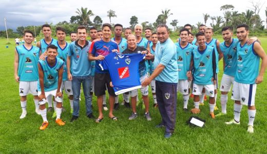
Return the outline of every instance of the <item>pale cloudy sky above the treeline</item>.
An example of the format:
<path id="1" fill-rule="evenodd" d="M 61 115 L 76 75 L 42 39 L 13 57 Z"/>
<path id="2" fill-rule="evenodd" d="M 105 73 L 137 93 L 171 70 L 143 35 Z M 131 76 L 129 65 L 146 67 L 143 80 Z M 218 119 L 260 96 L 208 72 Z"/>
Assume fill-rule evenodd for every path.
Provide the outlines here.
<path id="1" fill-rule="evenodd" d="M 255 1 L 255 2 L 258 2 Z M 260 16 L 265 21 L 264 10 L 267 7 L 267 3 L 263 0 L 259 1 L 263 6 L 260 11 Z M 220 11 L 220 7 L 225 4 L 234 5 L 235 10 L 244 12 L 246 9 L 250 9 L 252 6 L 249 0 L 244 1 L 175 1 L 164 0 L 162 3 L 159 1 L 119 1 L 119 0 L 79 0 L 79 1 L 18 1 L 18 0 L 2 0 L 0 4 L 0 30 L 5 29 L 4 17 L 7 19 L 7 27 L 16 29 L 18 26 L 29 25 L 42 25 L 44 23 L 53 23 L 67 21 L 69 22 L 72 15 L 77 15 L 75 11 L 77 8 L 87 7 L 92 10 L 96 15 L 99 15 L 103 23 L 109 23 L 107 17 L 107 11 L 112 9 L 116 11 L 117 17 L 111 18 L 111 23 L 120 23 L 124 27 L 129 26 L 130 17 L 135 15 L 138 17 L 138 22 L 154 23 L 157 16 L 161 14 L 161 10 L 167 8 L 173 15 L 170 15 L 167 23 L 172 20 L 178 20 L 178 25 L 183 26 L 187 23 L 196 25 L 198 22 L 203 21 L 203 13 L 207 13 L 211 16 L 223 16 L 223 12 Z M 94 16 L 90 17 L 92 21 Z M 207 21 L 207 25 L 211 23 L 211 20 Z M 265 24 L 265 23 L 264 23 Z M 170 25 L 168 25 L 170 26 Z M 172 26 L 170 26 L 172 28 Z"/>

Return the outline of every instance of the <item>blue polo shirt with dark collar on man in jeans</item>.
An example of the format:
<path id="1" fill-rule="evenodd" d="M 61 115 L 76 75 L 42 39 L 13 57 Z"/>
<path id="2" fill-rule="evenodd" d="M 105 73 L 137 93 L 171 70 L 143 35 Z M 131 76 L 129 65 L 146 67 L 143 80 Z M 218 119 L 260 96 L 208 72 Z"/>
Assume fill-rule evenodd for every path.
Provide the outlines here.
<path id="1" fill-rule="evenodd" d="M 91 62 L 88 59 L 88 50 L 91 42 L 86 41 L 81 47 L 78 41 L 74 41 L 69 45 L 68 56 L 71 56 L 70 71 L 72 76 L 89 76 L 91 73 Z"/>

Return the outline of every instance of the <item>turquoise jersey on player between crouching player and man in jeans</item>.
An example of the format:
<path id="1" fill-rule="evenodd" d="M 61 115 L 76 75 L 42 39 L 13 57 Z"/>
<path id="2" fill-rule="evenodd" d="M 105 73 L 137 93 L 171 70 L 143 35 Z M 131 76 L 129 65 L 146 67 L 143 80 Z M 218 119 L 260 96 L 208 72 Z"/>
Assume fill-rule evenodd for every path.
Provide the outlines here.
<path id="1" fill-rule="evenodd" d="M 59 42 L 56 42 L 55 46 L 58 47 L 58 57 L 62 59 L 62 61 L 64 62 L 62 81 L 67 81 L 68 80 L 67 57 L 69 52 L 69 44 L 66 42 L 66 46 L 63 49 L 60 47 Z"/>

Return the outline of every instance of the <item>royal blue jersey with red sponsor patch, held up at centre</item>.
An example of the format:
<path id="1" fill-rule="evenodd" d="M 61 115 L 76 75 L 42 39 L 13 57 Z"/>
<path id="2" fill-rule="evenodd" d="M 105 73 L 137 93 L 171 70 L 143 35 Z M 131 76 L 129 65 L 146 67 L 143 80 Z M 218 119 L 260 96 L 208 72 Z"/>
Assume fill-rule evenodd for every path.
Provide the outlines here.
<path id="1" fill-rule="evenodd" d="M 145 54 L 121 54 L 112 52 L 100 62 L 100 67 L 108 69 L 115 94 L 141 88 L 138 73 L 139 62 L 145 59 Z"/>

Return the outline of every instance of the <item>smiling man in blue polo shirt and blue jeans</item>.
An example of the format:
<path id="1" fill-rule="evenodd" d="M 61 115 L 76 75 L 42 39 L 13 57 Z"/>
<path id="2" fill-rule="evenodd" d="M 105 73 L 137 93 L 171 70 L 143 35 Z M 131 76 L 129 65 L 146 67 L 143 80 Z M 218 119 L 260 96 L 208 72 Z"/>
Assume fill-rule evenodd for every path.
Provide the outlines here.
<path id="1" fill-rule="evenodd" d="M 85 98 L 86 116 L 95 119 L 91 108 L 91 63 L 88 61 L 88 50 L 91 42 L 86 41 L 87 30 L 85 26 L 77 28 L 78 40 L 69 45 L 67 58 L 68 80 L 71 81 L 73 92 L 73 113 L 70 122 L 79 118 L 81 84 Z"/>

